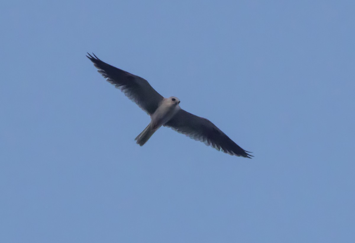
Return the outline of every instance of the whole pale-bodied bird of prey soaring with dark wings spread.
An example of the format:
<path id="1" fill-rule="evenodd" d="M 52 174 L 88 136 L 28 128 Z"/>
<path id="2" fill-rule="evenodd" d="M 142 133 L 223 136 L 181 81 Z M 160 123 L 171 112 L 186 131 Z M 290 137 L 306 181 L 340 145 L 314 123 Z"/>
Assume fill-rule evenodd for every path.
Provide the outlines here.
<path id="1" fill-rule="evenodd" d="M 135 139 L 140 146 L 143 146 L 161 126 L 165 126 L 224 153 L 245 158 L 253 157 L 249 154 L 251 152 L 239 147 L 212 122 L 181 109 L 177 97 L 164 98 L 147 80 L 103 62 L 94 53 L 93 56 L 89 53 L 88 55 L 94 66 L 99 69 L 98 72 L 109 83 L 115 85 L 151 116 L 151 122 Z"/>

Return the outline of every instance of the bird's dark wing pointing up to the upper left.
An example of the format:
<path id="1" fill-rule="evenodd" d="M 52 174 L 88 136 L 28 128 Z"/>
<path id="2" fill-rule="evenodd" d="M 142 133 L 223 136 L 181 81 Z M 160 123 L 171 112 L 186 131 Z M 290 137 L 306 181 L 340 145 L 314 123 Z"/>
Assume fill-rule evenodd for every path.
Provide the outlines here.
<path id="1" fill-rule="evenodd" d="M 93 54 L 94 57 L 89 53 L 88 55 L 87 57 L 94 63 L 94 66 L 99 69 L 98 72 L 104 78 L 107 78 L 107 81 L 125 93 L 142 110 L 149 115 L 152 115 L 157 110 L 159 103 L 163 100 L 163 96 L 155 91 L 147 80 L 111 66 L 97 58 L 95 54 Z"/>

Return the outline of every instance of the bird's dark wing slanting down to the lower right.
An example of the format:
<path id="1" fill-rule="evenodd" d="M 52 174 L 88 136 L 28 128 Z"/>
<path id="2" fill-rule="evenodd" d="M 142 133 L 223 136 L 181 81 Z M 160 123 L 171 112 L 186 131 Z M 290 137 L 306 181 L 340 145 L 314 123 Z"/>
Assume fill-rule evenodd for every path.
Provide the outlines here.
<path id="1" fill-rule="evenodd" d="M 212 146 L 224 153 L 246 158 L 253 157 L 253 155 L 248 154 L 251 152 L 239 147 L 212 122 L 185 110 L 179 110 L 164 126 L 171 127 L 179 133 L 185 134 L 196 141 L 204 142 L 207 146 Z"/>

